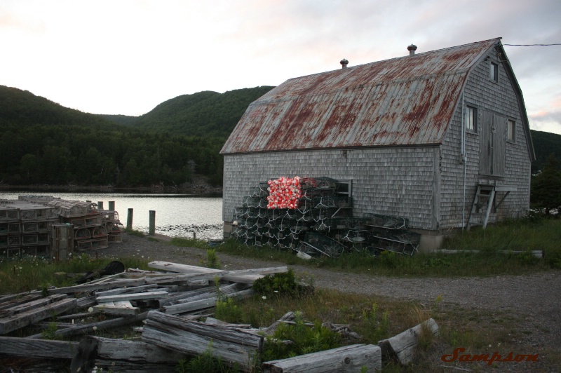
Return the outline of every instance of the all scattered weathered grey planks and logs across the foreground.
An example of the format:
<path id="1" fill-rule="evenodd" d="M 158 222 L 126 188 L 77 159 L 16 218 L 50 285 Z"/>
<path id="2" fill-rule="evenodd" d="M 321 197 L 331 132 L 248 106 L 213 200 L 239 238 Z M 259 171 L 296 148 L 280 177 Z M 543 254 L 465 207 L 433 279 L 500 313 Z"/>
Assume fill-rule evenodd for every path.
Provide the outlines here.
<path id="1" fill-rule="evenodd" d="M 151 262 L 149 266 L 161 271 L 129 269 L 81 285 L 0 297 L 0 334 L 4 334 L 0 336 L 0 366 L 11 367 L 18 359 L 18 369 L 25 368 L 21 361 L 27 359 L 34 364 L 29 367 L 41 372 L 60 371 L 55 361 L 65 362 L 65 369 L 70 367 L 72 372 L 92 372 L 94 367 L 114 372 L 171 372 L 180 360 L 210 352 L 225 364 L 250 372 L 261 360 L 264 339 L 279 325 L 294 323 L 292 312 L 261 329 L 210 317 L 217 300 L 250 297 L 257 278 L 288 271 L 285 266 L 241 271 L 168 262 Z M 48 323 L 53 316 L 57 316 L 56 323 Z M 128 325 L 142 332 L 140 337 L 96 335 L 100 330 L 116 332 Z M 350 331 L 350 325 L 324 326 L 347 339 L 360 338 Z M 129 334 L 130 329 L 126 329 Z M 26 337 L 14 337 L 15 331 Z M 378 345 L 352 344 L 268 361 L 262 363 L 262 369 L 357 372 L 366 367 L 370 372 L 381 369 L 383 359 L 407 364 L 419 336 L 427 331 L 438 332 L 434 320 Z M 59 337 L 73 341 L 53 340 Z"/>

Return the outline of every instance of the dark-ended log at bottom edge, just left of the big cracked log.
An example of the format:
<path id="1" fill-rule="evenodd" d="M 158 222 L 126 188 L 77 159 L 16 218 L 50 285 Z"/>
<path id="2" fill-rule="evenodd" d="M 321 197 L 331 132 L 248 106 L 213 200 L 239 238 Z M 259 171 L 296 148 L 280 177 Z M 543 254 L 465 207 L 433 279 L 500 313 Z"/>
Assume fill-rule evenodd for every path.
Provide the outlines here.
<path id="1" fill-rule="evenodd" d="M 71 369 L 72 372 L 89 372 L 93 367 L 114 372 L 173 372 L 182 358 L 182 353 L 142 341 L 86 337 L 80 341 Z"/>

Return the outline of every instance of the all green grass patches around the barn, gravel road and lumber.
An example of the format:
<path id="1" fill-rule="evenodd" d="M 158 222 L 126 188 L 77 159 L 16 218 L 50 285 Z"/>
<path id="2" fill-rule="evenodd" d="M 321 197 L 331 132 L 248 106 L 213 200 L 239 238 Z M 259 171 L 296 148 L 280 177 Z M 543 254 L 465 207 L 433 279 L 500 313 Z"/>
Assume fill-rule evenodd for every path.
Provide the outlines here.
<path id="1" fill-rule="evenodd" d="M 207 251 L 207 262 L 219 264 L 220 253 L 239 255 L 255 259 L 323 267 L 336 271 L 373 273 L 385 276 L 493 276 L 500 273 L 531 273 L 561 268 L 561 219 L 520 219 L 487 226 L 487 229 L 472 229 L 454 238 L 445 240 L 443 248 L 454 250 L 481 250 L 479 254 L 461 255 L 424 255 L 405 257 L 385 253 L 372 257 L 362 253 L 343 255 L 338 259 L 320 258 L 311 261 L 299 259 L 289 250 L 276 250 L 269 247 L 247 247 L 236 240 L 227 240 L 221 245 L 210 246 L 203 240 L 173 238 L 171 245 L 199 247 Z M 504 255 L 498 250 L 544 250 L 545 259 L 536 259 L 527 254 Z M 148 269 L 147 261 L 140 258 L 120 259 L 125 266 Z M 95 260 L 88 255 L 77 255 L 68 262 L 53 262 L 50 258 L 34 257 L 15 261 L 0 262 L 0 294 L 25 292 L 41 289 L 50 285 L 57 287 L 73 285 L 72 279 L 61 273 L 84 273 L 102 269 L 110 259 Z M 58 275 L 55 273 L 59 273 Z M 302 280 L 302 279 L 300 279 Z M 308 282 L 313 279 L 309 278 Z M 506 313 L 479 311 L 447 304 L 442 306 L 437 298 L 433 304 L 420 304 L 415 301 L 397 301 L 383 297 L 362 294 L 346 294 L 334 290 L 316 290 L 313 294 L 288 296 L 275 292 L 276 284 L 266 287 L 267 293 L 258 294 L 245 301 L 224 299 L 219 302 L 219 318 L 231 323 L 247 323 L 254 327 L 266 327 L 278 320 L 288 311 L 299 311 L 302 320 L 311 322 L 315 329 L 306 334 L 302 330 L 281 330 L 277 337 L 288 338 L 290 334 L 302 334 L 304 342 L 298 344 L 299 351 L 284 351 L 294 354 L 313 351 L 318 346 L 333 342 L 340 344 L 377 344 L 380 339 L 391 337 L 434 318 L 439 325 L 440 335 L 433 337 L 421 333 L 419 349 L 414 363 L 400 367 L 390 362 L 384 365 L 384 372 L 438 371 L 440 356 L 450 354 L 454 348 L 466 348 L 466 353 L 533 353 L 534 346 L 520 344 L 530 332 L 524 325 L 525 320 Z M 281 284 L 282 285 L 282 284 Z M 272 292 L 269 291 L 272 289 Z M 358 339 L 343 337 L 334 340 L 329 333 L 320 328 L 321 323 L 350 325 Z M 47 328 L 45 337 L 50 337 Z M 284 333 L 284 334 L 282 334 Z M 284 337 L 283 337 L 284 336 Z M 327 342 L 325 342 L 327 341 Z M 332 346 L 332 344 L 329 344 Z M 275 345 L 267 357 L 275 356 L 280 348 Z M 559 366 L 561 353 L 548 351 L 547 363 Z M 198 361 L 200 364 L 208 362 Z M 485 370 L 475 363 L 462 365 L 468 369 Z M 436 369 L 436 370 L 435 370 Z M 191 370 L 189 370 L 191 371 Z M 440 369 L 446 372 L 447 369 Z"/>

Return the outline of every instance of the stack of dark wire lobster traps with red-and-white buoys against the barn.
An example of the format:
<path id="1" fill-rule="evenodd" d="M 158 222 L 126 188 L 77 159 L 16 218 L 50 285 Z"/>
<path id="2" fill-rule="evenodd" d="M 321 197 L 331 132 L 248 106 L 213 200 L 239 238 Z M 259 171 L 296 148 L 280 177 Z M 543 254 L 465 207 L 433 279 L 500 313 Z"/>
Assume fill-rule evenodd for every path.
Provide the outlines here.
<path id="1" fill-rule="evenodd" d="M 295 182 L 291 181 L 288 179 L 288 185 L 293 186 Z M 231 235 L 246 245 L 295 250 L 306 257 L 339 257 L 352 251 L 371 255 L 384 250 L 404 255 L 417 252 L 420 235 L 408 230 L 409 219 L 379 214 L 353 216 L 352 198 L 339 193 L 335 179 L 299 178 L 299 189 L 290 189 L 299 196 L 297 203 L 283 204 L 289 208 L 276 208 L 278 196 L 274 205 L 271 203 L 271 184 L 278 182 L 259 183 L 243 198 L 242 205 L 234 208 Z"/>

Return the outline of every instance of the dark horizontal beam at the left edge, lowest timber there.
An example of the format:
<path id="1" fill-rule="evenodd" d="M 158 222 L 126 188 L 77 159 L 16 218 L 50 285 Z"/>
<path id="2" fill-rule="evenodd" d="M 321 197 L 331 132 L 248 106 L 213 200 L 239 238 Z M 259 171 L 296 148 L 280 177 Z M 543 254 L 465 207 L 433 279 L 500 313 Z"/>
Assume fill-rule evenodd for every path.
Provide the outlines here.
<path id="1" fill-rule="evenodd" d="M 0 354 L 23 358 L 72 359 L 78 342 L 0 337 Z"/>

